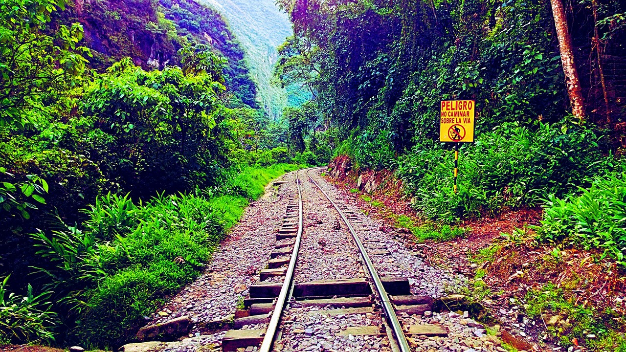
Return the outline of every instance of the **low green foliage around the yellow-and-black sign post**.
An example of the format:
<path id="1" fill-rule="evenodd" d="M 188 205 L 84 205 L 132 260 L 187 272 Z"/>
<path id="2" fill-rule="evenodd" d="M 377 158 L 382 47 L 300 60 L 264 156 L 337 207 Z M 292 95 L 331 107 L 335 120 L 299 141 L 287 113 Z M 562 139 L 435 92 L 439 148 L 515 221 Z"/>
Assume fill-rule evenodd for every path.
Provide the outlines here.
<path id="1" fill-rule="evenodd" d="M 457 194 L 453 152 L 439 144 L 414 147 L 399 159 L 396 175 L 432 219 L 498 214 L 503 207 L 536 205 L 550 194 L 567 194 L 604 170 L 610 159 L 600 153 L 599 139 L 593 130 L 567 122 L 504 123 L 461 148 Z"/>

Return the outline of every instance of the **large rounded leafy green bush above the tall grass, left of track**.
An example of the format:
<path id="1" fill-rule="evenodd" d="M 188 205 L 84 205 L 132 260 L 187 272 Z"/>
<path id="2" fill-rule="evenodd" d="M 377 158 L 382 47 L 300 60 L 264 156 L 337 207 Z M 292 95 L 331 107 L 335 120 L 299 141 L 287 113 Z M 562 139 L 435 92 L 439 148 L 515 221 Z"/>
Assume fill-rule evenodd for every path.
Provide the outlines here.
<path id="1" fill-rule="evenodd" d="M 180 68 L 146 72 L 124 59 L 98 77 L 83 106 L 93 127 L 111 136 L 99 150 L 119 165 L 110 168 L 110 179 L 143 197 L 150 195 L 144 190 L 217 183 L 225 150 L 215 111 L 225 88 L 222 61 L 212 55 L 198 49 L 183 54 L 187 74 Z"/>

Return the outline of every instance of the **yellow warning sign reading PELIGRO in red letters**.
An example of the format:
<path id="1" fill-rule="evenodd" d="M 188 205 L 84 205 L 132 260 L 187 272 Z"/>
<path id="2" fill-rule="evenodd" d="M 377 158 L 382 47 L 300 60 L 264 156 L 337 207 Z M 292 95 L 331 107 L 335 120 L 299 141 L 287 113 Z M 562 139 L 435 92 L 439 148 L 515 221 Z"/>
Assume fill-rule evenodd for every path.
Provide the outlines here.
<path id="1" fill-rule="evenodd" d="M 441 101 L 439 140 L 441 142 L 474 142 L 473 100 Z"/>

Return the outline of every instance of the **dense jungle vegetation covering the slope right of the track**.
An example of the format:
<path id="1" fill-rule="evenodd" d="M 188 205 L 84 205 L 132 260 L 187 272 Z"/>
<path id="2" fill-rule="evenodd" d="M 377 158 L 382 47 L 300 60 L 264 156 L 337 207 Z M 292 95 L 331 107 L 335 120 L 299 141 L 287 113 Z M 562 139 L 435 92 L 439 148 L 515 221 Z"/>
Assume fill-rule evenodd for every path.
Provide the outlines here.
<path id="1" fill-rule="evenodd" d="M 394 170 L 441 223 L 543 204 L 542 239 L 626 265 L 626 4 L 565 6 L 587 110 L 573 116 L 548 0 L 279 3 L 295 36 L 276 75 L 309 88 L 336 155 Z M 437 134 L 454 99 L 477 106 L 456 194 Z"/>

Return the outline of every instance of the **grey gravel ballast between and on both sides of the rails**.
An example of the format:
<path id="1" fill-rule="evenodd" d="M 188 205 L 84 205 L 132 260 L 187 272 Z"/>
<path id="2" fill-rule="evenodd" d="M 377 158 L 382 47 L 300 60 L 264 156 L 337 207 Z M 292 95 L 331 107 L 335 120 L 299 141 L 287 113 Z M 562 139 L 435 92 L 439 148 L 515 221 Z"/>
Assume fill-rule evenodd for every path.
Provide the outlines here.
<path id="1" fill-rule="evenodd" d="M 310 172 L 325 192 L 347 210 L 352 210 L 357 219 L 352 224 L 358 236 L 371 254 L 372 262 L 380 276 L 409 277 L 414 294 L 438 298 L 446 291 L 456 291 L 466 285 L 467 279 L 444 269 L 432 267 L 397 241 L 393 232 L 382 232 L 382 222 L 363 214 L 342 191 L 326 182 L 319 175 L 321 170 Z M 319 279 L 366 277 L 359 260 L 356 245 L 346 225 L 340 222 L 336 229 L 336 210 L 324 195 L 300 173 L 304 195 L 304 234 L 300 256 L 295 271 L 296 282 Z M 294 174 L 285 177 L 293 181 Z M 227 241 L 216 252 L 212 268 L 192 285 L 172 298 L 162 309 L 169 313 L 160 317 L 155 313 L 154 322 L 166 321 L 176 316 L 188 315 L 194 321 L 211 321 L 232 314 L 237 301 L 247 294 L 253 282 L 259 281 L 258 272 L 265 267 L 269 253 L 275 245 L 275 233 L 282 221 L 289 192 L 295 192 L 295 182 L 282 185 L 277 197 L 266 197 L 250 207 L 242 222 L 237 225 Z M 387 254 L 373 252 L 389 251 Z M 275 277 L 272 281 L 282 281 Z M 378 311 L 367 314 L 324 314 L 329 308 L 295 308 L 285 311 L 281 322 L 282 335 L 274 345 L 274 351 L 391 351 L 385 335 L 342 336 L 342 331 L 352 326 L 381 327 L 382 318 Z M 408 329 L 419 324 L 439 324 L 448 331 L 448 337 L 411 336 L 409 343 L 414 351 L 505 351 L 499 341 L 486 334 L 486 329 L 471 317 L 456 313 L 427 313 L 427 316 L 399 318 Z M 264 328 L 245 326 L 244 328 Z M 197 328 L 192 338 L 168 343 L 167 351 L 212 351 L 219 346 L 224 332 L 202 336 Z M 252 348 L 255 351 L 256 348 Z"/>

